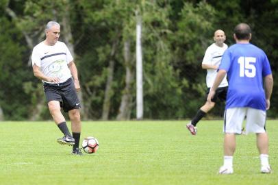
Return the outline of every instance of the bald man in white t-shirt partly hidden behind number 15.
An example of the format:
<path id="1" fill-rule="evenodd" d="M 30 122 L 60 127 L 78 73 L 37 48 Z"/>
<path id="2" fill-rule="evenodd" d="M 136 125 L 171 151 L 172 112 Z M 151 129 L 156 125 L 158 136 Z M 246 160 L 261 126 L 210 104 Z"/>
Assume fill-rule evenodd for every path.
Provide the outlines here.
<path id="1" fill-rule="evenodd" d="M 206 77 L 206 84 L 207 84 L 207 95 L 210 92 L 210 88 L 214 82 L 214 79 L 217 75 L 217 69 L 220 64 L 221 58 L 223 56 L 224 51 L 228 48 L 228 46 L 224 43 L 226 40 L 225 33 L 223 30 L 218 29 L 214 32 L 214 41 L 210 47 L 207 48 L 205 51 L 205 56 L 202 62 L 202 68 L 207 69 L 207 77 Z M 216 96 L 212 99 L 211 102 L 206 101 L 205 104 L 197 111 L 197 114 L 193 117 L 193 119 L 186 125 L 188 130 L 192 135 L 197 134 L 197 123 L 209 112 L 214 108 L 217 99 L 220 101 L 225 101 L 227 96 L 228 90 L 228 82 L 226 77 L 220 83 L 218 89 L 216 90 Z M 207 97 L 205 97 L 207 99 Z"/>

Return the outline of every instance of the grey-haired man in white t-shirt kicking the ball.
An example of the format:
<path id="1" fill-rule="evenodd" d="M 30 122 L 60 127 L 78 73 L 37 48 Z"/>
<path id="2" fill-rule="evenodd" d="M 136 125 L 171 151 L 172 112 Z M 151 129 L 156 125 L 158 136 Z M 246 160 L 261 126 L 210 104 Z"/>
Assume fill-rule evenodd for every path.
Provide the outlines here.
<path id="1" fill-rule="evenodd" d="M 58 41 L 60 24 L 55 21 L 47 23 L 45 35 L 46 39 L 34 47 L 31 56 L 34 75 L 42 80 L 49 112 L 64 134 L 57 142 L 73 145 L 72 154 L 82 155 L 79 150 L 81 106 L 77 97 L 80 90 L 77 68 L 68 47 Z M 68 112 L 73 135 L 68 130 L 61 108 Z"/>

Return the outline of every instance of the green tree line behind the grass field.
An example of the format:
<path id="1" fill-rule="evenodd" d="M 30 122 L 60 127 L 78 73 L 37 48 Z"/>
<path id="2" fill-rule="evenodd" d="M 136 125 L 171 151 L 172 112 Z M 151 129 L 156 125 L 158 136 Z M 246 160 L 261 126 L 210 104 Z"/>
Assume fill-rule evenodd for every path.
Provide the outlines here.
<path id="1" fill-rule="evenodd" d="M 136 18 L 142 20 L 145 119 L 188 119 L 205 101 L 201 61 L 216 29 L 234 43 L 236 24 L 249 23 L 277 78 L 278 1 L 1 0 L 0 120 L 50 119 L 31 69 L 31 51 L 48 21 L 75 58 L 83 119 L 136 118 Z M 267 11 L 266 11 L 267 10 Z M 276 84 L 276 83 L 275 83 Z M 277 117 L 273 89 L 268 116 Z M 223 104 L 209 117 L 222 116 Z"/>

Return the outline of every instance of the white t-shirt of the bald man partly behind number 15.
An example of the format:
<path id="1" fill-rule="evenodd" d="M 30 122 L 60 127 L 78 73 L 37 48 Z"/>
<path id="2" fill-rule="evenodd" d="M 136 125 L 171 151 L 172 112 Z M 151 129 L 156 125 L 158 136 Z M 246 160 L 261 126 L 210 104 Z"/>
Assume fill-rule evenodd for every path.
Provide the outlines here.
<path id="1" fill-rule="evenodd" d="M 223 53 L 227 48 L 228 46 L 225 43 L 223 47 L 218 47 L 215 43 L 213 43 L 212 45 L 207 47 L 202 64 L 219 66 Z M 206 78 L 207 88 L 212 87 L 216 75 L 217 75 L 217 69 L 207 69 L 207 78 Z M 225 76 L 225 78 L 223 79 L 223 81 L 220 83 L 218 87 L 225 87 L 225 86 L 228 86 L 227 75 Z"/>

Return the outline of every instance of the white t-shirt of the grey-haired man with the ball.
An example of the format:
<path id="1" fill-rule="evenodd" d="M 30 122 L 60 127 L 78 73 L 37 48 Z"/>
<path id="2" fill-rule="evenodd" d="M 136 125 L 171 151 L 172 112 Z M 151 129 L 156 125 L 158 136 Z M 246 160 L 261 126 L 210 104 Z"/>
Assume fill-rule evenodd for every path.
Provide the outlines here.
<path id="1" fill-rule="evenodd" d="M 47 77 L 59 77 L 60 83 L 71 77 L 68 64 L 73 61 L 73 56 L 64 42 L 58 41 L 53 46 L 45 45 L 44 41 L 40 42 L 34 47 L 31 60 L 32 65 L 39 66 Z"/>

